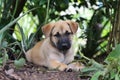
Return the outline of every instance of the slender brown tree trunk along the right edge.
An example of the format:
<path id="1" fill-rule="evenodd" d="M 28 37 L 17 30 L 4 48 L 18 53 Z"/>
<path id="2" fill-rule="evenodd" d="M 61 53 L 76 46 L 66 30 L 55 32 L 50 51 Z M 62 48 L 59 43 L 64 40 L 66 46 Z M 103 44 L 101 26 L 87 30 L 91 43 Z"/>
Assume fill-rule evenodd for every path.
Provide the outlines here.
<path id="1" fill-rule="evenodd" d="M 112 20 L 112 32 L 109 38 L 108 53 L 111 51 L 112 47 L 115 47 L 120 43 L 120 0 L 116 1 L 114 17 Z"/>

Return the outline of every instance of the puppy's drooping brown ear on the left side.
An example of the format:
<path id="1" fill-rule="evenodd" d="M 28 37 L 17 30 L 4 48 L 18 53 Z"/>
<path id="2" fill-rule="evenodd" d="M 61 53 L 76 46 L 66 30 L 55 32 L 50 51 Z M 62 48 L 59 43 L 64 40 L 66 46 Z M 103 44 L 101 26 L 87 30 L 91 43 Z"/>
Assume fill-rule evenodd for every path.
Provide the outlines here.
<path id="1" fill-rule="evenodd" d="M 52 28 L 54 27 L 54 23 L 48 23 L 42 27 L 42 32 L 45 35 L 45 37 L 49 37 Z"/>

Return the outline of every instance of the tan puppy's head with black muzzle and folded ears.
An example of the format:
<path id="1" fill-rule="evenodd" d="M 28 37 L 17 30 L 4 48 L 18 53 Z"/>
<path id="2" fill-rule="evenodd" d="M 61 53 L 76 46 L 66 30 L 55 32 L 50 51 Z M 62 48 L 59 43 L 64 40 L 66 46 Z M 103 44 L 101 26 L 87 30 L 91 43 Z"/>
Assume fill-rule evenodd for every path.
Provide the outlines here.
<path id="1" fill-rule="evenodd" d="M 48 23 L 42 27 L 46 38 L 60 51 L 67 51 L 71 47 L 72 35 L 76 33 L 78 23 L 67 20 Z"/>

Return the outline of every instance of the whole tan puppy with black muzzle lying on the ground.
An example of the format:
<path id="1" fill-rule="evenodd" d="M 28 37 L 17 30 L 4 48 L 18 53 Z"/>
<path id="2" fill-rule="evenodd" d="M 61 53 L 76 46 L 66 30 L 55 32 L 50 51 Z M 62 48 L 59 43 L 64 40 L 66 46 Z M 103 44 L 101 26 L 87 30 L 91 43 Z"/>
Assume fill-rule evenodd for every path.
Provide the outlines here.
<path id="1" fill-rule="evenodd" d="M 72 37 L 78 29 L 78 23 L 67 20 L 49 23 L 42 27 L 45 35 L 43 41 L 38 42 L 27 51 L 26 58 L 34 64 L 46 66 L 49 69 L 63 71 L 72 68 L 79 70 L 83 66 L 68 65 L 74 60 Z"/>

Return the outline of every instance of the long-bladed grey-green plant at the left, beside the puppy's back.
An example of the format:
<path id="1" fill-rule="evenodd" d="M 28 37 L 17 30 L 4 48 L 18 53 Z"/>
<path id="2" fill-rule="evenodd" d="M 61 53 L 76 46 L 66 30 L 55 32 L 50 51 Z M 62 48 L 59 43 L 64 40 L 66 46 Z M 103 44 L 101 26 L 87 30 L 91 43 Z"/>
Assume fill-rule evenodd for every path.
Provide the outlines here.
<path id="1" fill-rule="evenodd" d="M 34 10 L 34 9 L 32 9 L 32 10 Z M 30 10 L 30 11 L 32 11 L 32 10 Z M 28 11 L 28 12 L 30 12 L 30 11 Z M 0 35 L 0 46 L 1 46 L 0 47 L 0 51 L 2 52 L 1 63 L 3 63 L 3 65 L 5 64 L 6 60 L 8 59 L 8 57 L 6 58 L 6 56 L 8 56 L 8 54 L 10 53 L 10 51 L 17 53 L 17 50 L 15 51 L 16 45 L 19 46 L 21 48 L 21 50 L 23 50 L 23 52 L 25 53 L 24 49 L 27 49 L 27 46 L 30 45 L 30 43 L 33 40 L 33 37 L 31 36 L 30 40 L 29 40 L 29 43 L 26 45 L 25 44 L 26 43 L 25 42 L 25 40 L 26 40 L 25 34 L 23 33 L 22 29 L 19 27 L 20 28 L 20 32 L 22 34 L 22 38 L 23 38 L 22 41 L 21 41 L 21 44 L 18 41 L 14 42 L 14 43 L 11 43 L 11 44 L 8 44 L 7 40 L 4 41 L 4 37 L 5 37 L 5 33 L 6 33 L 5 31 L 9 27 L 11 27 L 11 25 L 15 24 L 21 17 L 23 17 L 24 15 L 26 15 L 28 12 L 26 12 L 22 16 L 14 19 L 13 21 L 11 21 L 9 24 L 7 24 L 4 28 L 2 28 L 0 30 L 0 34 L 1 34 Z M 9 37 L 11 37 L 11 36 L 9 36 Z M 23 45 L 26 45 L 25 48 L 24 48 Z M 9 50 L 7 51 L 7 49 L 9 49 L 10 51 Z M 19 52 L 19 55 L 21 55 L 20 52 Z M 13 57 L 15 57 L 15 55 Z M 9 56 L 9 58 L 10 58 L 10 56 Z"/>

